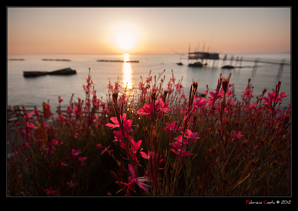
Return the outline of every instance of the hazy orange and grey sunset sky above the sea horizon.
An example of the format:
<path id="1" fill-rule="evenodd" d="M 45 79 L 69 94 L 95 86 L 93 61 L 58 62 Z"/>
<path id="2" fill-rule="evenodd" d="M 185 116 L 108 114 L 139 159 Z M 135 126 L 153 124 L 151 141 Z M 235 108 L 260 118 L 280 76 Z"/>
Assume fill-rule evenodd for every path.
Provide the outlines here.
<path id="1" fill-rule="evenodd" d="M 291 7 L 7 7 L 7 54 L 185 53 L 190 43 L 291 51 Z"/>

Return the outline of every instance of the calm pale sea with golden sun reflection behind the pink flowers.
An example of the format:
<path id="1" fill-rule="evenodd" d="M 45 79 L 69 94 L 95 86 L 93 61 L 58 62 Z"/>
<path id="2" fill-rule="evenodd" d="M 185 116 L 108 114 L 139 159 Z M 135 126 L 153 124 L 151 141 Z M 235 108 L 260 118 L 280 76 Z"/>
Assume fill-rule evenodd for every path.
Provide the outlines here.
<path id="1" fill-rule="evenodd" d="M 58 96 L 64 101 L 63 106 L 69 105 L 69 99 L 74 94 L 74 100 L 85 98 L 83 85 L 91 70 L 91 79 L 96 85 L 97 97 L 103 97 L 106 101 L 107 85 L 109 80 L 112 84 L 119 81 L 121 85 L 138 88 L 141 76 L 146 80 L 149 72 L 158 76 L 163 70 L 166 86 L 172 78 L 172 71 L 176 82 L 182 79 L 185 93 L 189 92 L 193 80 L 199 81 L 198 92 L 203 92 L 206 85 L 209 91 L 214 91 L 220 75 L 229 76 L 232 73 L 230 83 L 235 86 L 235 93 L 241 99 L 241 92 L 246 89 L 248 79 L 254 87 L 254 97 L 259 96 L 264 88 L 268 92 L 275 89 L 278 80 L 282 80 L 281 92 L 289 94 L 283 99 L 283 106 L 291 104 L 291 65 L 280 65 L 263 63 L 281 62 L 291 64 L 291 53 L 263 53 L 263 54 L 228 54 L 226 65 L 236 66 L 236 59 L 252 60 L 252 62 L 238 61 L 237 66 L 242 68 L 222 69 L 225 54 L 220 54 L 220 60 L 213 62 L 209 60 L 208 65 L 203 67 L 189 67 L 188 60 L 180 54 L 130 54 L 130 60 L 139 62 L 98 62 L 97 60 L 123 60 L 123 54 L 19 54 L 7 55 L 7 105 L 37 106 L 42 110 L 42 102 L 48 101 L 55 111 L 58 106 Z M 234 56 L 234 60 L 230 59 Z M 254 70 L 254 60 L 258 58 L 257 69 Z M 23 60 L 10 60 L 23 59 Z M 51 59 L 51 60 L 43 60 Z M 70 60 L 70 61 L 58 61 Z M 177 65 L 177 62 L 184 65 Z M 54 71 L 62 68 L 72 68 L 77 71 L 75 75 L 55 76 L 46 75 L 34 78 L 25 78 L 23 71 Z M 267 96 L 267 94 L 266 94 Z"/>

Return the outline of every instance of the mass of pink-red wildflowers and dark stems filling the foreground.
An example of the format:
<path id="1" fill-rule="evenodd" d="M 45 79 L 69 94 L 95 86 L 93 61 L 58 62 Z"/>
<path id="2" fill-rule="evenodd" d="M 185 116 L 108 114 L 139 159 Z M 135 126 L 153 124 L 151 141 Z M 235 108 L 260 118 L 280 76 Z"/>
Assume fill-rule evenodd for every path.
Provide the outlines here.
<path id="1" fill-rule="evenodd" d="M 85 99 L 72 95 L 64 108 L 59 96 L 56 115 L 49 102 L 43 112 L 23 107 L 7 131 L 7 194 L 291 195 L 291 106 L 280 108 L 281 81 L 254 99 L 249 79 L 239 100 L 231 74 L 202 96 L 198 81 L 186 94 L 173 71 L 163 85 L 163 73 L 141 77 L 136 96 L 109 82 L 102 102 L 89 69 Z"/>

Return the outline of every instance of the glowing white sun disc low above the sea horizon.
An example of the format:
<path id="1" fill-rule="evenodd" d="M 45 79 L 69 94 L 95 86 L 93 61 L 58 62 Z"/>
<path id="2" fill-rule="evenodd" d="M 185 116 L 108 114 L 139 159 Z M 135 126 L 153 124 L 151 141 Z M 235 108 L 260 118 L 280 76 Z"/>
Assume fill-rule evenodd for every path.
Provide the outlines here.
<path id="1" fill-rule="evenodd" d="M 123 26 L 115 32 L 114 41 L 119 49 L 129 51 L 136 45 L 136 33 L 131 28 Z"/>

